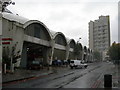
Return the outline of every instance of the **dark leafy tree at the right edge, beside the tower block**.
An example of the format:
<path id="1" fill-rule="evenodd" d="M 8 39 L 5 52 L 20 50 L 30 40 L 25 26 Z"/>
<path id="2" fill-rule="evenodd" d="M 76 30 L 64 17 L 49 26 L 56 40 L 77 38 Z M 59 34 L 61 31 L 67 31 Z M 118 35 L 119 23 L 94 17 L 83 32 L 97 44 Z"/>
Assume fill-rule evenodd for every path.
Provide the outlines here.
<path id="1" fill-rule="evenodd" d="M 108 55 L 114 64 L 119 64 L 120 62 L 120 43 L 114 42 L 108 50 Z"/>

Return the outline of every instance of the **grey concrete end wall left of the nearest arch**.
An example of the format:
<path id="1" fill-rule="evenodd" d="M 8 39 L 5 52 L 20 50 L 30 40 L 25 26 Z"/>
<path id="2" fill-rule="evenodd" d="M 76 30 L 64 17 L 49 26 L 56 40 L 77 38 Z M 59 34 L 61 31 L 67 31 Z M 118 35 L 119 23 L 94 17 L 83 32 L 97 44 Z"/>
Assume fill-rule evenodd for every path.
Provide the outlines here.
<path id="1" fill-rule="evenodd" d="M 15 51 L 14 51 L 15 55 L 17 54 L 18 51 L 20 51 L 19 55 L 21 55 L 22 53 L 24 30 L 21 27 L 22 27 L 21 24 L 12 22 L 3 18 L 3 38 L 12 38 L 12 41 L 10 41 L 10 44 L 3 45 L 3 47 L 6 47 L 6 46 L 9 47 L 10 56 L 12 54 L 12 47 L 15 47 Z M 19 65 L 17 64 L 17 66 Z"/>

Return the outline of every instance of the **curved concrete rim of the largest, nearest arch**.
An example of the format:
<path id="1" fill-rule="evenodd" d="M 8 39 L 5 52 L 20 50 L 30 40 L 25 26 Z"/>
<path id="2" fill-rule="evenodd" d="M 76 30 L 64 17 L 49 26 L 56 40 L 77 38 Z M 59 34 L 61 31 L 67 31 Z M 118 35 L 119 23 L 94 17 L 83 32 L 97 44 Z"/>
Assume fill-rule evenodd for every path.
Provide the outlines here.
<path id="1" fill-rule="evenodd" d="M 23 25 L 23 28 L 25 29 L 26 27 L 28 27 L 29 25 L 31 24 L 34 24 L 34 23 L 37 23 L 37 24 L 40 24 L 41 26 L 43 26 L 45 28 L 45 30 L 47 31 L 48 35 L 50 36 L 50 39 L 52 39 L 52 35 L 49 31 L 49 29 L 47 28 L 47 26 L 42 23 L 41 21 L 38 21 L 38 20 L 29 20 L 27 21 L 24 25 Z"/>

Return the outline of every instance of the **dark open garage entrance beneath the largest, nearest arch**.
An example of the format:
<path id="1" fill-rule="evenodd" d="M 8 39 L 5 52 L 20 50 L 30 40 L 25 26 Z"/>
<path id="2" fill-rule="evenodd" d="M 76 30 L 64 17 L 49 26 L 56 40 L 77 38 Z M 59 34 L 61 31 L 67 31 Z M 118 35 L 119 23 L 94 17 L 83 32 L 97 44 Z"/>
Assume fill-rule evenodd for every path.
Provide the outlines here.
<path id="1" fill-rule="evenodd" d="M 33 61 L 39 61 L 42 65 L 47 64 L 50 48 L 47 46 L 24 42 L 21 67 L 29 69 Z"/>

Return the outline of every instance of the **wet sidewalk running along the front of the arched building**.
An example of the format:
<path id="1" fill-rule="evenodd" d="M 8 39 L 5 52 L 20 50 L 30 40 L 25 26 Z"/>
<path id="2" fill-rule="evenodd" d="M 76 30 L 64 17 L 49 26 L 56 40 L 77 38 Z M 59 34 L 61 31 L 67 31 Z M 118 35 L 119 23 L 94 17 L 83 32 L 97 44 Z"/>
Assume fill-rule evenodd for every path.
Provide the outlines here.
<path id="1" fill-rule="evenodd" d="M 16 69 L 14 73 L 7 73 L 2 75 L 2 82 L 12 82 L 18 80 L 24 80 L 32 77 L 39 77 L 50 75 L 56 72 L 63 70 L 68 70 L 68 67 L 50 67 L 49 70 L 47 67 L 44 67 L 40 70 L 25 70 L 25 69 Z"/>

